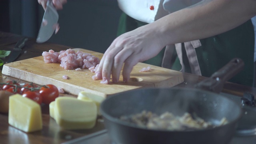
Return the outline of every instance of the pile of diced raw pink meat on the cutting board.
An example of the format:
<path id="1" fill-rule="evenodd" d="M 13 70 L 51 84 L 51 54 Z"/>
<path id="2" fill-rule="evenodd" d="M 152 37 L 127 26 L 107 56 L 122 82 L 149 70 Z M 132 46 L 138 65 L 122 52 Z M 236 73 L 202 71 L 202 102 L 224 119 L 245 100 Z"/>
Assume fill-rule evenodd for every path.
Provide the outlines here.
<path id="1" fill-rule="evenodd" d="M 100 63 L 100 59 L 92 54 L 68 49 L 60 52 L 43 52 L 45 63 L 60 63 L 60 66 L 64 69 L 73 70 L 76 68 L 91 68 L 96 67 Z"/>

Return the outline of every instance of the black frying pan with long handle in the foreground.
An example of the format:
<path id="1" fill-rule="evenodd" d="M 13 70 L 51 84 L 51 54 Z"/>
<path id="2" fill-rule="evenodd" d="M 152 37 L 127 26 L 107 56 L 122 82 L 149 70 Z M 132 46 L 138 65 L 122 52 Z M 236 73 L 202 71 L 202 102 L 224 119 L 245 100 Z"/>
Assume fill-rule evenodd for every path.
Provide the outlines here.
<path id="1" fill-rule="evenodd" d="M 111 140 L 116 144 L 227 144 L 234 135 L 242 109 L 214 92 L 220 92 L 223 83 L 243 66 L 242 60 L 235 58 L 196 88 L 144 88 L 109 96 L 100 110 Z M 168 111 L 176 116 L 189 112 L 213 124 L 225 117 L 228 124 L 204 130 L 169 131 L 142 128 L 119 119 L 142 110 L 158 115 Z"/>

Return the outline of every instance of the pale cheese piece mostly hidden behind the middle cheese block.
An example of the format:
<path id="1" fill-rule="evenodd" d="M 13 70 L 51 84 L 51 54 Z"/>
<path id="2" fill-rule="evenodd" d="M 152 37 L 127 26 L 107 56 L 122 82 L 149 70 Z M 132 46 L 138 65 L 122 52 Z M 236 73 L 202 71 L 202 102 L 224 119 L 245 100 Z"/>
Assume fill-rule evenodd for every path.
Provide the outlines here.
<path id="1" fill-rule="evenodd" d="M 97 114 L 101 115 L 101 113 L 100 113 L 100 104 L 106 98 L 104 98 L 103 96 L 99 96 L 99 95 L 96 95 L 96 94 L 89 93 L 89 92 L 81 91 L 81 92 L 78 93 L 77 99 L 78 100 L 91 99 L 93 102 L 95 102 L 95 104 L 97 106 Z"/>

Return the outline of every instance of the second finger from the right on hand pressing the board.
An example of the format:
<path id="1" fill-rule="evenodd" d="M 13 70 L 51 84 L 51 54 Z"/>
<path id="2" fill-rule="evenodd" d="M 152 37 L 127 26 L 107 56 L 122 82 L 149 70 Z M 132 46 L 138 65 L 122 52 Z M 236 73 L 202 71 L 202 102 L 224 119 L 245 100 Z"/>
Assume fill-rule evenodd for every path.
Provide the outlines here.
<path id="1" fill-rule="evenodd" d="M 122 66 L 124 61 L 132 55 L 132 50 L 121 50 L 114 57 L 114 64 L 112 66 L 112 82 L 118 82 L 120 77 L 120 72 L 122 70 Z"/>

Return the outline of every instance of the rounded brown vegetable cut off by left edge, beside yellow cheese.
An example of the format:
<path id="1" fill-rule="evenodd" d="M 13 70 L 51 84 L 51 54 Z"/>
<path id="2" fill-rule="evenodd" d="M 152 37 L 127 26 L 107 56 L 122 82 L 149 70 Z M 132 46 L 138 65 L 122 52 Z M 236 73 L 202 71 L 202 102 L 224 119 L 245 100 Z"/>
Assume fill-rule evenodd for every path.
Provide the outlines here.
<path id="1" fill-rule="evenodd" d="M 9 96 L 12 96 L 13 93 L 0 90 L 0 112 L 8 113 L 9 111 Z"/>

